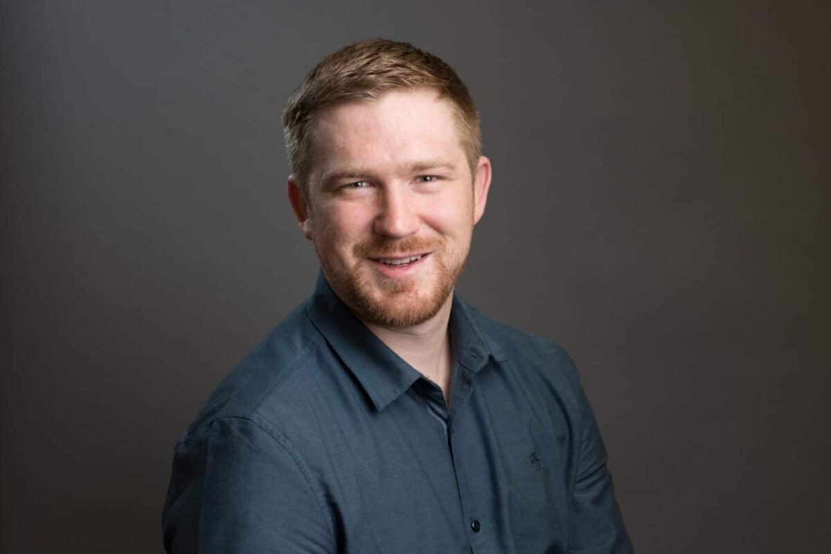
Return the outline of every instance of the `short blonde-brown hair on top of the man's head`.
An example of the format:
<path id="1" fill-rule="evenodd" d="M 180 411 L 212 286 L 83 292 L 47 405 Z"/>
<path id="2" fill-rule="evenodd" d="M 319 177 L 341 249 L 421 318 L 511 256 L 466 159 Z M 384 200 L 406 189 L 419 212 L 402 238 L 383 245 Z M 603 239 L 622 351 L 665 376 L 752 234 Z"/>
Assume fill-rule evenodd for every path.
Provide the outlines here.
<path id="1" fill-rule="evenodd" d="M 283 110 L 288 164 L 303 194 L 312 165 L 312 128 L 324 108 L 376 100 L 389 91 L 430 87 L 453 104 L 462 147 L 475 174 L 482 150 L 479 114 L 456 72 L 439 57 L 407 42 L 376 38 L 329 54 L 309 71 Z"/>

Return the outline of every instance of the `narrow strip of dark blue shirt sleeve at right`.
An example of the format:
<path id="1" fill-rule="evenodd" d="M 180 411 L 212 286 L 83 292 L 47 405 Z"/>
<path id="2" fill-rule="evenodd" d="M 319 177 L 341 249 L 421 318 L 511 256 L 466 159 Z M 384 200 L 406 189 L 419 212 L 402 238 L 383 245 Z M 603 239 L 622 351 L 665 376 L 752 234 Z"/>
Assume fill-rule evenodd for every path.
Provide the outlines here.
<path id="1" fill-rule="evenodd" d="M 612 488 L 607 453 L 591 406 L 568 359 L 580 409 L 577 478 L 571 499 L 568 552 L 571 554 L 632 554 L 632 542 L 623 525 Z"/>

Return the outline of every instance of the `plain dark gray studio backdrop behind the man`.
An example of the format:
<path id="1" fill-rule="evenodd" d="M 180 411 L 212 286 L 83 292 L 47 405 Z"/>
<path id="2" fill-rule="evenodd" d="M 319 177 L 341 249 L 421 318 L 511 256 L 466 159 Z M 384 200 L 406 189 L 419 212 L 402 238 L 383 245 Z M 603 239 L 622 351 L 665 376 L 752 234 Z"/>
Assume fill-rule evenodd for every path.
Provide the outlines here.
<path id="1" fill-rule="evenodd" d="M 384 36 L 494 163 L 460 292 L 578 362 L 638 552 L 828 552 L 827 2 L 4 2 L 2 552 L 160 552 L 175 439 L 311 292 L 279 113 Z"/>

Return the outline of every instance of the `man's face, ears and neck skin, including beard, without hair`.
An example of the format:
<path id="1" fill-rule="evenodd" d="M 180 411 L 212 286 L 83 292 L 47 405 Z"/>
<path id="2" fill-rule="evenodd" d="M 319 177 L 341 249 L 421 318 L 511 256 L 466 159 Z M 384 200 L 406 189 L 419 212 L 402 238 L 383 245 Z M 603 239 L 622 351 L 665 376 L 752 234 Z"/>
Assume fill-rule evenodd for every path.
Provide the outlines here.
<path id="1" fill-rule="evenodd" d="M 451 293 L 484 213 L 489 160 L 471 175 L 452 106 L 432 89 L 391 91 L 316 119 L 308 198 L 288 179 L 303 235 L 371 331 L 425 375 L 449 377 Z M 404 267 L 380 261 L 414 255 Z"/>

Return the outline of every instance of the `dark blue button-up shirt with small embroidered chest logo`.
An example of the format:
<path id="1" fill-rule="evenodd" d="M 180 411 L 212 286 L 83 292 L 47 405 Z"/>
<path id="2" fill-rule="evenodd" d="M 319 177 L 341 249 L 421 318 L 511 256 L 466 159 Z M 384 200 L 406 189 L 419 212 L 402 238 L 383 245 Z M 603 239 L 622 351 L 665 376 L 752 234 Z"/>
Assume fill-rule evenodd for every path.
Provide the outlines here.
<path id="1" fill-rule="evenodd" d="M 632 552 L 553 342 L 454 298 L 450 409 L 318 279 L 175 449 L 167 552 Z"/>

